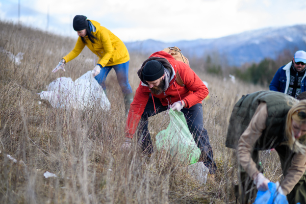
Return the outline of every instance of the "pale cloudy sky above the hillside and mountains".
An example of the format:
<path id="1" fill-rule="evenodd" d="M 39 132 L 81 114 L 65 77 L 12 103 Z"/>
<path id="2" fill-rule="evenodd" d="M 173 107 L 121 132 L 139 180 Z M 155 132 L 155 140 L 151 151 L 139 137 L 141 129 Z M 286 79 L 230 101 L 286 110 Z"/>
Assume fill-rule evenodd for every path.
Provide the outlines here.
<path id="1" fill-rule="evenodd" d="M 20 0 L 20 5 L 23 24 L 77 37 L 72 19 L 85 15 L 125 42 L 218 38 L 306 24 L 306 0 Z M 18 0 L 0 0 L 0 20 L 17 22 Z"/>

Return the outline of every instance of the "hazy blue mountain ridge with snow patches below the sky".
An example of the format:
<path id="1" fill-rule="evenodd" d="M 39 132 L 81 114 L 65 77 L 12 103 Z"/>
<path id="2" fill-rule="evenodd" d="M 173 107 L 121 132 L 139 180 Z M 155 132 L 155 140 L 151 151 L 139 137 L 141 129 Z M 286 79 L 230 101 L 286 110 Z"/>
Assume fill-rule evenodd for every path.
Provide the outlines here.
<path id="1" fill-rule="evenodd" d="M 294 53 L 306 50 L 306 25 L 281 28 L 266 28 L 215 39 L 197 39 L 166 43 L 155 40 L 125 42 L 130 52 L 151 54 L 165 47 L 180 47 L 188 57 L 205 59 L 217 53 L 223 63 L 240 66 L 244 63 L 260 62 L 264 58 L 276 59 L 284 49 Z"/>

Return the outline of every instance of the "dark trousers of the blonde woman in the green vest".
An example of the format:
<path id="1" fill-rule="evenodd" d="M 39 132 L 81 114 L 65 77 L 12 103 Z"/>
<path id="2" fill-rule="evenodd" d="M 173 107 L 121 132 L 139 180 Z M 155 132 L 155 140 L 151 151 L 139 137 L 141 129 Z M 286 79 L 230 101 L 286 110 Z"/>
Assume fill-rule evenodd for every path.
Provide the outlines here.
<path id="1" fill-rule="evenodd" d="M 279 160 L 281 160 L 281 167 L 283 174 L 286 176 L 288 168 L 291 166 L 291 161 L 293 158 L 293 152 L 287 145 L 279 145 L 275 147 Z M 258 151 L 254 150 L 252 152 L 252 159 L 257 164 L 258 169 L 263 172 L 264 169 L 259 166 L 259 156 Z M 256 185 L 253 184 L 251 177 L 246 173 L 246 171 L 239 165 L 239 175 L 240 180 L 239 192 L 235 192 L 235 195 L 240 195 L 240 203 L 252 203 L 256 198 L 257 189 Z M 238 190 L 235 188 L 235 191 Z M 299 182 L 294 186 L 293 190 L 287 195 L 288 202 L 290 204 L 306 204 L 306 172 L 302 175 Z"/>

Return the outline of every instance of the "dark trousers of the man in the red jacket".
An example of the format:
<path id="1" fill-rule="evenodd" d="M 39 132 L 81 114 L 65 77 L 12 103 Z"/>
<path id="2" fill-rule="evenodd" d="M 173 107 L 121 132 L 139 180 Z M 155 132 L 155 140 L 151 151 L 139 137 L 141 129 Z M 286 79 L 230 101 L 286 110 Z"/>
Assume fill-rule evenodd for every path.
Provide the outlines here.
<path id="1" fill-rule="evenodd" d="M 152 152 L 152 140 L 148 131 L 148 117 L 168 110 L 168 106 L 163 106 L 159 98 L 154 98 L 156 112 L 154 112 L 154 104 L 150 95 L 148 103 L 145 106 L 144 112 L 138 124 L 139 142 L 142 144 L 143 150 L 148 153 Z M 216 173 L 216 163 L 213 158 L 213 150 L 209 142 L 207 130 L 203 127 L 203 109 L 201 104 L 196 104 L 191 108 L 183 108 L 181 110 L 186 118 L 190 133 L 192 134 L 195 143 L 201 150 L 199 161 L 202 161 L 210 170 L 211 174 Z"/>

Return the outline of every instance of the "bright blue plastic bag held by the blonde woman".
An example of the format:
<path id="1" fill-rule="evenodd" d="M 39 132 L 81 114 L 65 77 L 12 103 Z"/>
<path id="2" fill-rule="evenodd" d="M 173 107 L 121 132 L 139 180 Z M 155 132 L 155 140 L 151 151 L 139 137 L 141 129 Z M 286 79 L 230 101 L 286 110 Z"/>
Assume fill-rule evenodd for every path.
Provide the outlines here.
<path id="1" fill-rule="evenodd" d="M 277 192 L 276 184 L 270 182 L 268 188 L 257 192 L 254 204 L 288 204 L 286 196 Z"/>

